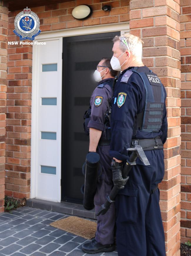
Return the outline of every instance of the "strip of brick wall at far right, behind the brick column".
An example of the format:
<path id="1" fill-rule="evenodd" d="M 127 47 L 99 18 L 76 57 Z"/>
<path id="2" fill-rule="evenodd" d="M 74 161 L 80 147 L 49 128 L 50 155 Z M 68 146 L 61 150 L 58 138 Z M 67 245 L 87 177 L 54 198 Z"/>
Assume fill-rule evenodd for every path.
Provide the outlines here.
<path id="1" fill-rule="evenodd" d="M 180 1 L 181 241 L 191 242 L 191 1 Z"/>

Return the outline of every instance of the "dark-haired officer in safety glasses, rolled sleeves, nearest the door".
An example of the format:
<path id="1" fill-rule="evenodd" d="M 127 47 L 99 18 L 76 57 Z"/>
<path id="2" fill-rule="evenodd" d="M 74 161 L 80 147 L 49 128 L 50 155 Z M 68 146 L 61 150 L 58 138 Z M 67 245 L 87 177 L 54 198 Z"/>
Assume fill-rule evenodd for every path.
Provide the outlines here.
<path id="1" fill-rule="evenodd" d="M 106 196 L 110 193 L 112 182 L 112 170 L 109 156 L 110 149 L 110 103 L 113 96 L 113 79 L 117 75 L 110 65 L 110 58 L 102 58 L 98 63 L 93 77 L 98 82 L 98 86 L 93 91 L 90 100 L 90 109 L 85 118 L 90 121 L 86 123 L 86 134 L 90 135 L 89 151 L 97 152 L 100 155 L 102 173 L 98 178 L 97 191 L 94 196 L 95 211 L 105 202 Z M 83 252 L 94 254 L 97 252 L 111 252 L 113 246 L 113 230 L 115 225 L 115 205 L 111 205 L 110 210 L 102 216 L 98 216 L 96 237 L 93 241 L 83 244 Z"/>

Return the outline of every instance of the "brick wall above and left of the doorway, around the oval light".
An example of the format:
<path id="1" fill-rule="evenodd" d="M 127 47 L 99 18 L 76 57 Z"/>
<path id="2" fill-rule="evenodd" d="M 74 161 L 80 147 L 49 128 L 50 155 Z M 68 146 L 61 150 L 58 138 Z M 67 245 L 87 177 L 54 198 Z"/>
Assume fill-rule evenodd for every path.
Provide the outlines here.
<path id="1" fill-rule="evenodd" d="M 92 7 L 90 18 L 79 21 L 72 17 L 79 4 Z M 111 5 L 110 12 L 101 9 L 105 4 Z M 128 0 L 76 0 L 31 10 L 38 15 L 42 31 L 129 21 Z M 13 30 L 15 16 L 21 11 L 9 12 L 8 41 L 19 41 Z M 8 58 L 5 193 L 30 198 L 32 46 L 9 45 Z"/>

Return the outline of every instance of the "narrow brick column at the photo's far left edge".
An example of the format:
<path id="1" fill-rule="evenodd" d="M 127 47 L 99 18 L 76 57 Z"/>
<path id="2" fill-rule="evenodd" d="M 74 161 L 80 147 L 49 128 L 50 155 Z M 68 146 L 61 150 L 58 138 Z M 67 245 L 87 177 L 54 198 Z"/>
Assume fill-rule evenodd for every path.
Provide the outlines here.
<path id="1" fill-rule="evenodd" d="M 8 8 L 0 1 L 0 212 L 4 212 L 5 197 L 5 127 L 7 89 Z"/>

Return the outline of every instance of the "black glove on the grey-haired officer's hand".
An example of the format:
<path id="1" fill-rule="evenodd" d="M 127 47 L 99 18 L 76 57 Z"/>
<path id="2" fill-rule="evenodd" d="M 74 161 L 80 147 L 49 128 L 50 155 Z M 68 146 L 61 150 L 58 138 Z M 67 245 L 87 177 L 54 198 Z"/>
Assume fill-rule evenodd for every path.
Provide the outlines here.
<path id="1" fill-rule="evenodd" d="M 117 166 L 116 166 L 117 165 Z M 113 184 L 120 189 L 123 189 L 129 177 L 123 179 L 123 163 L 115 162 L 112 160 L 111 163 L 112 173 L 113 173 Z"/>

